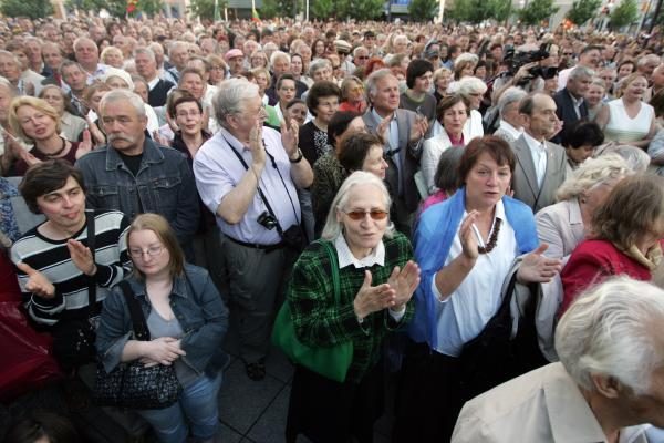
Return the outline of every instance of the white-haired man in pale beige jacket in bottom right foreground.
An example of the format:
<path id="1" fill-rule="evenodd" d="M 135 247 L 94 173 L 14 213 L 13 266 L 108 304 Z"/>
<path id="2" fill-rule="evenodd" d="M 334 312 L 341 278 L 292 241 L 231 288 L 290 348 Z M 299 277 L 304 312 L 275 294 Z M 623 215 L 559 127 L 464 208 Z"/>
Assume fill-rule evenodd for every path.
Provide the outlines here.
<path id="1" fill-rule="evenodd" d="M 646 443 L 664 427 L 664 291 L 620 278 L 582 295 L 558 323 L 560 362 L 467 402 L 453 443 Z"/>

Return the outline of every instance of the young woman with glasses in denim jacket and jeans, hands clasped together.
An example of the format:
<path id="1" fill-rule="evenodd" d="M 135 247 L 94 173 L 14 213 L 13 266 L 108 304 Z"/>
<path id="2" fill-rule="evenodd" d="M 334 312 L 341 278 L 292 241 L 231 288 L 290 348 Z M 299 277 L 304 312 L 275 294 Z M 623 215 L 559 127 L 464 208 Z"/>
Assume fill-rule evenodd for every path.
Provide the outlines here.
<path id="1" fill-rule="evenodd" d="M 185 264 L 168 222 L 156 214 L 136 217 L 127 233 L 134 274 L 127 279 L 139 301 L 152 341 L 133 338 L 132 318 L 117 286 L 106 298 L 97 351 L 107 372 L 123 362 L 174 364 L 183 385 L 178 402 L 138 410 L 160 442 L 212 441 L 219 414 L 217 393 L 227 356 L 221 341 L 228 310 L 208 272 Z M 190 427 L 190 429 L 189 429 Z"/>

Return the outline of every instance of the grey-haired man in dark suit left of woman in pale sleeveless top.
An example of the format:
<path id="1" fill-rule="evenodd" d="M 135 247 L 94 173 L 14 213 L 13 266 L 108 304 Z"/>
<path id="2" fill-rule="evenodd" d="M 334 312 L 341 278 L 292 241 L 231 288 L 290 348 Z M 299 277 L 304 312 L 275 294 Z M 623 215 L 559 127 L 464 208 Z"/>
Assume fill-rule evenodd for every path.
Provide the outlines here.
<path id="1" fill-rule="evenodd" d="M 588 105 L 583 96 L 592 83 L 594 72 L 585 66 L 577 66 L 568 76 L 567 86 L 553 95 L 556 101 L 556 115 L 562 120 L 562 131 L 572 127 L 573 123 L 588 119 Z M 556 135 L 551 141 L 560 143 L 562 134 Z"/>

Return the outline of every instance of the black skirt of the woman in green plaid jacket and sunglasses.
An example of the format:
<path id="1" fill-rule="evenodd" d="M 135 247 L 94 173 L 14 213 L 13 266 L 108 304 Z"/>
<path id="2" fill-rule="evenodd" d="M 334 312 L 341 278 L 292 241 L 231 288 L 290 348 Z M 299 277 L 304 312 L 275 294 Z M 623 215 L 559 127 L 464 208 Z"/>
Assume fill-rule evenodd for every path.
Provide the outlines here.
<path id="1" fill-rule="evenodd" d="M 299 364 L 288 406 L 286 441 L 303 434 L 314 443 L 373 442 L 373 427 L 384 410 L 382 364 L 360 383 L 339 383 Z"/>

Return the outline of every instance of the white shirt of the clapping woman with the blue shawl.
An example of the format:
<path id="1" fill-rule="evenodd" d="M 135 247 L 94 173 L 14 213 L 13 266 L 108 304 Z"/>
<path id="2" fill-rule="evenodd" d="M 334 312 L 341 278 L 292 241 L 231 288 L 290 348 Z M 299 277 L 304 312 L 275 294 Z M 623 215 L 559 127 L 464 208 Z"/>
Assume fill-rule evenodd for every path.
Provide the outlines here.
<path id="1" fill-rule="evenodd" d="M 468 213 L 464 212 L 463 218 L 467 215 Z M 437 352 L 458 357 L 464 344 L 481 332 L 500 307 L 502 282 L 518 255 L 518 245 L 515 230 L 505 216 L 501 200 L 496 204 L 496 218 L 501 220 L 496 247 L 490 253 L 477 257 L 470 272 L 448 298 L 440 300 L 436 279 L 432 281 L 433 296 L 436 297 Z M 481 240 L 478 243 L 481 245 Z M 463 250 L 457 234 L 445 259 L 445 266 Z"/>

